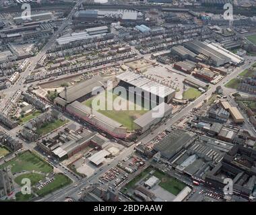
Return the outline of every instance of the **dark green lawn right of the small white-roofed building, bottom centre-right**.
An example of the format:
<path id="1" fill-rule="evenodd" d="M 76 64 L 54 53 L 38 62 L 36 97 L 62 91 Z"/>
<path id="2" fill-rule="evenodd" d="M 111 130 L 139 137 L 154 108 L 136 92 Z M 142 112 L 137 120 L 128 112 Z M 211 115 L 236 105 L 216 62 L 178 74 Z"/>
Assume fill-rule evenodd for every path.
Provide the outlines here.
<path id="1" fill-rule="evenodd" d="M 166 189 L 168 192 L 172 193 L 173 195 L 177 196 L 181 190 L 186 187 L 185 183 L 175 179 L 174 177 L 170 177 L 166 175 L 162 171 L 156 170 L 153 173 L 154 176 L 158 177 L 161 182 L 158 184 L 163 189 Z"/>

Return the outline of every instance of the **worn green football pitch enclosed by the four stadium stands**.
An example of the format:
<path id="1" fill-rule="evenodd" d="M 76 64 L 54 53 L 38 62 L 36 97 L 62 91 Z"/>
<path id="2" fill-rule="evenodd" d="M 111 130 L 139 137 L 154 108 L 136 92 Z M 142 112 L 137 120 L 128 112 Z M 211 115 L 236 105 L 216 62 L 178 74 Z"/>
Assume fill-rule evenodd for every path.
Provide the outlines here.
<path id="1" fill-rule="evenodd" d="M 134 124 L 133 121 L 135 119 L 139 118 L 140 116 L 142 116 L 143 114 L 145 114 L 146 112 L 148 112 L 148 110 L 146 108 L 141 108 L 141 110 L 136 110 L 136 107 L 138 107 L 138 105 L 136 105 L 135 103 L 132 103 L 131 101 L 127 102 L 128 101 L 127 99 L 124 99 L 123 97 L 120 97 L 119 95 L 115 95 L 113 93 L 111 93 L 111 94 L 113 95 L 113 99 L 106 98 L 106 92 L 105 92 L 105 94 L 100 93 L 97 96 L 105 96 L 105 98 L 106 98 L 105 99 L 105 107 L 107 107 L 106 104 L 108 102 L 113 103 L 113 101 L 114 102 L 117 101 L 116 99 L 120 99 L 122 103 L 127 103 L 127 110 L 115 110 L 115 108 L 113 108 L 113 110 L 97 110 L 97 112 L 99 112 L 100 114 L 103 114 L 104 116 L 107 116 L 110 119 L 115 120 L 116 122 L 119 122 L 120 124 L 125 126 L 128 130 L 136 129 L 137 126 Z M 83 104 L 92 108 L 92 101 L 94 99 L 95 99 L 95 97 L 93 97 L 92 99 L 88 99 L 87 101 L 84 101 Z M 133 108 L 134 110 L 129 110 L 128 104 L 130 104 L 131 107 L 134 107 Z"/>

